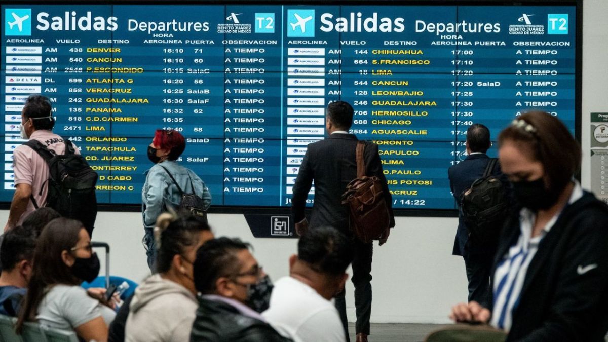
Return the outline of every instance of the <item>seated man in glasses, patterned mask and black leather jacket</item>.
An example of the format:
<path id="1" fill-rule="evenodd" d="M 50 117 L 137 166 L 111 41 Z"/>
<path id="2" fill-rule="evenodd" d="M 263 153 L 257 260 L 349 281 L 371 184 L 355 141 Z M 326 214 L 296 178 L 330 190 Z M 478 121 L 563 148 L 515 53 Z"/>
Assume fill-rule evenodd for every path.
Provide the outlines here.
<path id="1" fill-rule="evenodd" d="M 247 243 L 221 237 L 202 245 L 194 265 L 196 290 L 202 296 L 190 341 L 289 341 L 246 304 L 263 276 Z"/>

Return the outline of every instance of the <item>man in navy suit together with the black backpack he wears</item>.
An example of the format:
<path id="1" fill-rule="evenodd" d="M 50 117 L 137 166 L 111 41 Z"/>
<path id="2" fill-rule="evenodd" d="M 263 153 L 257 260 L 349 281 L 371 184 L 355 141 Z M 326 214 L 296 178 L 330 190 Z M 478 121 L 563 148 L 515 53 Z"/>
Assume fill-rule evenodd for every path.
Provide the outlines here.
<path id="1" fill-rule="evenodd" d="M 509 209 L 498 159 L 486 155 L 491 145 L 488 127 L 471 125 L 466 131 L 466 159 L 447 170 L 459 209 L 452 254 L 465 259 L 468 300 L 482 305 L 489 299 L 497 239 Z"/>

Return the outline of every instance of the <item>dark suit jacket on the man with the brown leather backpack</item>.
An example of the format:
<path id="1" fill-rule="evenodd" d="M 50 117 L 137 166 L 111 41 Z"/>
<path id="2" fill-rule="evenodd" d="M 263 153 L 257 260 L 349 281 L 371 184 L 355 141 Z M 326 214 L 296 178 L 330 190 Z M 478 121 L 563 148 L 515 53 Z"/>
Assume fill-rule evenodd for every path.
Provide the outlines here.
<path id="1" fill-rule="evenodd" d="M 330 225 L 348 232 L 348 210 L 342 205 L 342 194 L 348 183 L 357 178 L 357 141 L 354 134 L 334 133 L 325 140 L 308 145 L 293 188 L 291 214 L 294 222 L 304 218 L 306 197 L 314 180 L 313 213 L 309 225 Z M 367 176 L 378 176 L 382 180 L 386 201 L 389 206 L 392 205 L 389 187 L 382 173 L 378 145 L 367 142 L 364 160 Z M 395 226 L 392 210 L 391 226 Z"/>

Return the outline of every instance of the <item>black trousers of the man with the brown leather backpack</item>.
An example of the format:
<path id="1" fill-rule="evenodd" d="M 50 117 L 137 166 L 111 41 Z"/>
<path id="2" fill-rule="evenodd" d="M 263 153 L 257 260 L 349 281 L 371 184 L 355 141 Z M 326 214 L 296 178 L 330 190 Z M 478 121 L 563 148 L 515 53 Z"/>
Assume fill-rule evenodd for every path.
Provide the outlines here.
<path id="1" fill-rule="evenodd" d="M 354 307 L 357 315 L 354 331 L 355 333 L 369 335 L 371 316 L 371 254 L 373 243 L 363 243 L 357 239 L 353 239 L 353 251 L 353 276 L 351 277 L 351 281 L 354 285 Z M 340 319 L 342 319 L 346 340 L 350 342 L 345 295 L 346 290 L 342 290 L 336 296 L 336 309 L 340 313 Z"/>

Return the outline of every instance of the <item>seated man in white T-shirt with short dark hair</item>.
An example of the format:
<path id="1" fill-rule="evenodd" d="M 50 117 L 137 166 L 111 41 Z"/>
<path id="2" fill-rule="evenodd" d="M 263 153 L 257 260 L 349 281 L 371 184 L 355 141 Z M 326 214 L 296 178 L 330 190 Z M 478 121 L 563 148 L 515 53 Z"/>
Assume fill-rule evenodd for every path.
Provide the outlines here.
<path id="1" fill-rule="evenodd" d="M 296 342 L 344 342 L 342 321 L 331 298 L 348 279 L 351 244 L 334 228 L 309 229 L 289 258 L 289 276 L 272 290 L 270 308 L 262 315 L 278 332 Z"/>

